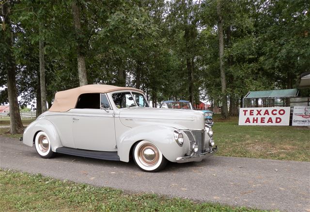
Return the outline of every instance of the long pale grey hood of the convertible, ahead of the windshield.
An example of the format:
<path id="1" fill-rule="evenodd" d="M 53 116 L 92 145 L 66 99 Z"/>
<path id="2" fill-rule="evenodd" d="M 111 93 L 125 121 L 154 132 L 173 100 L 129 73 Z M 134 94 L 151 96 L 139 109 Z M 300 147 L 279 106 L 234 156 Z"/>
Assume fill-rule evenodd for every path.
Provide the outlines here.
<path id="1" fill-rule="evenodd" d="M 203 130 L 203 113 L 194 110 L 163 109 L 163 108 L 124 108 L 119 118 L 127 127 L 140 125 L 166 125 L 179 130 Z"/>

